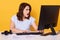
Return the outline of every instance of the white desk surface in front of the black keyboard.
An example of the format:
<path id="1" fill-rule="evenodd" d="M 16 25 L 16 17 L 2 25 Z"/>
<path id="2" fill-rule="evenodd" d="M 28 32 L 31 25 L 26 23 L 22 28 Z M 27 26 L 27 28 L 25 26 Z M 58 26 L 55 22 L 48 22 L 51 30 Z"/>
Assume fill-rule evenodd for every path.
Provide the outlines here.
<path id="1" fill-rule="evenodd" d="M 60 40 L 60 34 L 58 35 L 48 35 L 48 36 L 41 36 L 41 35 L 16 35 L 16 34 L 9 34 L 9 35 L 2 35 L 0 33 L 0 40 Z"/>

